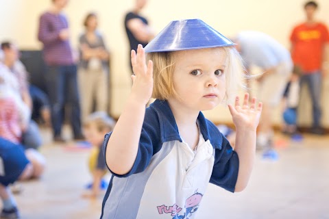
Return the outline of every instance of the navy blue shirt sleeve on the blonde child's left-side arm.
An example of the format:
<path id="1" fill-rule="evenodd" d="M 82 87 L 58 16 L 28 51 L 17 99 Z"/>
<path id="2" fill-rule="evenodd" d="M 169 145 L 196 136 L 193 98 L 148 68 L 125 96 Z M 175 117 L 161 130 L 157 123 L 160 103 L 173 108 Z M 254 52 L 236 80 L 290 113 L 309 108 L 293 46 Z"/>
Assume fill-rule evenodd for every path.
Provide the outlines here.
<path id="1" fill-rule="evenodd" d="M 106 152 L 106 146 L 108 144 L 108 140 L 110 139 L 110 134 L 111 133 L 106 134 L 106 138 L 103 144 L 104 153 Z M 108 169 L 116 177 L 129 177 L 132 174 L 143 172 L 149 165 L 151 157 L 160 151 L 160 146 L 160 125 L 158 116 L 154 110 L 147 108 L 134 166 L 132 166 L 132 169 L 125 175 L 117 175 L 116 173 L 112 172 L 110 168 Z"/>

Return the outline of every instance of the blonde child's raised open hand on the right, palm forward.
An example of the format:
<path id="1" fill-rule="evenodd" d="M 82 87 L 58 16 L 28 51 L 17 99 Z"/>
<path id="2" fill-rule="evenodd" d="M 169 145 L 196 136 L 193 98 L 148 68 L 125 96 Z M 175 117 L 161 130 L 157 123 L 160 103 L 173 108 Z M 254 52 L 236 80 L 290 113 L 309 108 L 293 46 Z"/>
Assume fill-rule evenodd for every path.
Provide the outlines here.
<path id="1" fill-rule="evenodd" d="M 252 99 L 252 103 L 249 106 L 249 94 L 245 94 L 243 105 L 240 105 L 239 96 L 236 96 L 235 106 L 228 105 L 230 113 L 233 118 L 233 123 L 236 129 L 252 130 L 256 131 L 259 123 L 260 114 L 262 112 L 263 103 L 258 103 L 256 107 L 256 98 Z"/>

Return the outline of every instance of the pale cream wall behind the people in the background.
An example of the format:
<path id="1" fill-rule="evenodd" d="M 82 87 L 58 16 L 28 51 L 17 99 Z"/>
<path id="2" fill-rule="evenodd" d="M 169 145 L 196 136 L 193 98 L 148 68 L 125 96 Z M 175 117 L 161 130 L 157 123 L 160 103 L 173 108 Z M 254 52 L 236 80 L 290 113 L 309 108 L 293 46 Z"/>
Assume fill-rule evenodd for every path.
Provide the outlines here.
<path id="1" fill-rule="evenodd" d="M 36 40 L 38 17 L 46 10 L 51 0 L 0 0 L 0 40 L 14 40 L 21 49 L 40 49 Z M 82 22 L 90 11 L 99 14 L 99 29 L 104 34 L 106 43 L 112 51 L 112 116 L 119 116 L 124 101 L 130 92 L 130 70 L 128 68 L 128 47 L 123 17 L 134 0 L 71 0 L 65 9 L 71 25 L 73 45 L 77 45 L 77 36 L 83 30 Z M 329 21 L 329 1 L 319 0 L 318 18 Z M 291 27 L 304 20 L 302 10 L 304 0 L 149 0 L 143 14 L 149 18 L 156 32 L 159 32 L 172 20 L 184 18 L 201 18 L 215 27 L 225 36 L 234 36 L 238 31 L 254 29 L 263 31 L 289 48 Z M 324 81 L 323 106 L 329 107 L 326 93 L 329 90 L 328 77 Z M 302 125 L 310 124 L 310 102 L 300 116 Z M 230 122 L 228 110 L 219 106 L 207 112 L 214 122 Z M 275 123 L 281 121 L 280 111 L 274 116 Z M 329 113 L 324 110 L 324 125 L 329 127 Z"/>

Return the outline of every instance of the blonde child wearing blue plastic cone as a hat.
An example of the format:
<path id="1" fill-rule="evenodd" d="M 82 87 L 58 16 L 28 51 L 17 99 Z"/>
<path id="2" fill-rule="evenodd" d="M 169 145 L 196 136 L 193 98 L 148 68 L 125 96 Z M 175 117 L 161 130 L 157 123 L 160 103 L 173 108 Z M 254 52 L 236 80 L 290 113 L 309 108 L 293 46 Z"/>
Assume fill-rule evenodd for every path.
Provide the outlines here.
<path id="1" fill-rule="evenodd" d="M 249 105 L 248 94 L 242 106 L 238 96 L 228 104 L 234 151 L 201 112 L 235 96 L 241 58 L 234 44 L 199 19 L 173 21 L 131 61 L 132 92 L 104 142 L 112 179 L 101 218 L 196 218 L 209 182 L 242 191 L 262 104 L 253 98 Z"/>

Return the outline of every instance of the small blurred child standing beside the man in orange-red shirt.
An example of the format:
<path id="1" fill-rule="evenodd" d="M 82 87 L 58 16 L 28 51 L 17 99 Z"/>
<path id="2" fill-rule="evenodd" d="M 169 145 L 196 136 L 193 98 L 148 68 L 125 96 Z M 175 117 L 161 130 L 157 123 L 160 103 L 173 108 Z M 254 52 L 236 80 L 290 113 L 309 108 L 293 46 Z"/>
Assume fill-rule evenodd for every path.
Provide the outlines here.
<path id="1" fill-rule="evenodd" d="M 283 95 L 283 133 L 293 135 L 297 132 L 297 107 L 300 101 L 300 75 L 302 69 L 299 66 L 293 67 L 293 74 L 287 83 Z"/>

